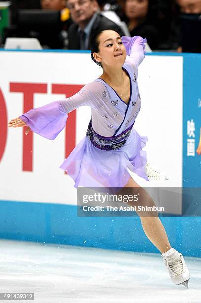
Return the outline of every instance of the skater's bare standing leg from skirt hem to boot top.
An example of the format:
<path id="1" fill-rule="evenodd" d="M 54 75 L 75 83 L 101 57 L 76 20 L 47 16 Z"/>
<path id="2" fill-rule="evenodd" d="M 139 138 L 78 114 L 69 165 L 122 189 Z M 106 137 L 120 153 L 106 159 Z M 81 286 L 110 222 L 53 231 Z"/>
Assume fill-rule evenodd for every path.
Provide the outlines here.
<path id="1" fill-rule="evenodd" d="M 153 202 L 153 199 L 151 196 L 139 186 L 132 178 L 129 179 L 126 186 L 118 193 L 118 194 L 126 194 L 128 193 L 129 188 L 129 194 L 130 191 L 133 191 L 132 194 L 140 193 L 141 199 L 139 199 L 138 202 L 128 202 L 127 204 L 131 206 L 135 206 L 137 208 L 137 205 L 142 206 L 156 206 Z M 171 245 L 169 243 L 166 231 L 164 229 L 164 226 L 161 222 L 161 220 L 158 217 L 157 211 L 136 211 L 137 214 L 140 217 L 142 228 L 148 237 L 148 239 L 158 248 L 158 250 L 161 253 L 167 252 Z"/>

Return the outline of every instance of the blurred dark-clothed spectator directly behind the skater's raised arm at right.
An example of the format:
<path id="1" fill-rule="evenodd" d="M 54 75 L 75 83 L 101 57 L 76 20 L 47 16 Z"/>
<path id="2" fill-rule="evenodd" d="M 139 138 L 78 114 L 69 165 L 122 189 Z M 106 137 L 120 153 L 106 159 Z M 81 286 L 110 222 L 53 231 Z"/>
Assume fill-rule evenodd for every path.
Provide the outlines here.
<path id="1" fill-rule="evenodd" d="M 125 14 L 131 36 L 147 38 L 151 49 L 157 49 L 159 32 L 150 22 L 151 3 L 149 0 L 126 0 Z"/>

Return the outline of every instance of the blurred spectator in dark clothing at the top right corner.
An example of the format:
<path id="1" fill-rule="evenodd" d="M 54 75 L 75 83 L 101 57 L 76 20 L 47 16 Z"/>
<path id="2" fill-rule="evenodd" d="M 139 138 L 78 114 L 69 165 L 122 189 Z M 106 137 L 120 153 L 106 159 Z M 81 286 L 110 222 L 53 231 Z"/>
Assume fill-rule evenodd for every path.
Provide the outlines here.
<path id="1" fill-rule="evenodd" d="M 180 7 L 178 52 L 201 53 L 201 0 L 177 0 Z"/>

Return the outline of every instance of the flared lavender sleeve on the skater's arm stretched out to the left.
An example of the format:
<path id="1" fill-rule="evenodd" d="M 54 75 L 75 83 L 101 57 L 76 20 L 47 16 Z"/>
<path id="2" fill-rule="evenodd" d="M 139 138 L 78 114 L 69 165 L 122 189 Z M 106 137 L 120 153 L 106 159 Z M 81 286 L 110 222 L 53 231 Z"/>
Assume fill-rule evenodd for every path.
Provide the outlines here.
<path id="1" fill-rule="evenodd" d="M 33 132 L 54 140 L 66 126 L 68 113 L 80 106 L 98 108 L 100 104 L 100 84 L 92 82 L 78 93 L 64 100 L 54 101 L 23 113 L 20 118 Z"/>

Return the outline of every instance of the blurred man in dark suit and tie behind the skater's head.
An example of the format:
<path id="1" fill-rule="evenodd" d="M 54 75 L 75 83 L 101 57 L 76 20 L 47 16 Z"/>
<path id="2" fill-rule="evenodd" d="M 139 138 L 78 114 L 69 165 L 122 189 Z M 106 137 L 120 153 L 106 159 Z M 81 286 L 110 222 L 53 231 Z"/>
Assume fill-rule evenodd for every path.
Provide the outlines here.
<path id="1" fill-rule="evenodd" d="M 89 50 L 90 34 L 97 29 L 113 29 L 120 36 L 121 28 L 98 12 L 96 0 L 67 0 L 73 24 L 68 29 L 69 49 Z"/>

